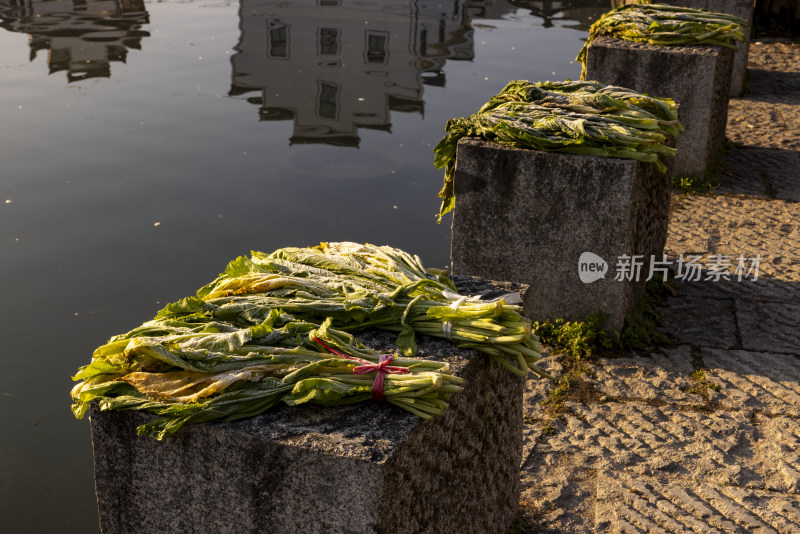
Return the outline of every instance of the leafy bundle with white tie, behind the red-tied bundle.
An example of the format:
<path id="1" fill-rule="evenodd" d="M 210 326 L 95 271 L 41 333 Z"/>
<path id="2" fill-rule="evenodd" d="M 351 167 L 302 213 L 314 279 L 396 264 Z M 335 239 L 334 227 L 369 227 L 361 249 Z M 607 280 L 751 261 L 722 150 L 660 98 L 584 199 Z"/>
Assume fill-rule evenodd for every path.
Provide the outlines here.
<path id="1" fill-rule="evenodd" d="M 515 302 L 509 300 L 515 299 Z M 442 271 L 429 273 L 417 256 L 392 247 L 322 243 L 240 257 L 214 282 L 187 300 L 180 314 L 206 310 L 241 326 L 281 309 L 304 320 L 333 320 L 336 328 L 379 328 L 399 332 L 401 352 L 416 352 L 415 332 L 444 337 L 462 348 L 500 356 L 519 375 L 536 367 L 541 347 L 521 315 L 519 295 L 492 302 L 459 295 Z"/>

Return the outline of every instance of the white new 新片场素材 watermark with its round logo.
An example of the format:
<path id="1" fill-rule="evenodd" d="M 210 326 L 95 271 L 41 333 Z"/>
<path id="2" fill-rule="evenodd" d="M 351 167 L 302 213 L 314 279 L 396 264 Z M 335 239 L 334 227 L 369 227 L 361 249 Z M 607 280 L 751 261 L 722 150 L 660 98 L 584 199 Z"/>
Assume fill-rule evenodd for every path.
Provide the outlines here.
<path id="1" fill-rule="evenodd" d="M 670 271 L 676 280 L 699 282 L 701 280 L 719 282 L 720 280 L 758 280 L 758 268 L 761 263 L 761 254 L 754 258 L 745 257 L 744 254 L 733 255 L 711 254 L 703 263 L 704 256 L 683 254 L 678 259 L 671 261 L 666 255 L 661 259 L 650 256 L 645 260 L 644 255 L 623 254 L 617 257 L 614 266 L 614 280 L 622 282 L 629 280 L 638 282 L 646 274 L 645 281 L 650 281 L 656 274 L 664 280 Z M 584 284 L 591 284 L 606 277 L 608 262 L 594 252 L 584 252 L 578 258 L 578 276 Z"/>

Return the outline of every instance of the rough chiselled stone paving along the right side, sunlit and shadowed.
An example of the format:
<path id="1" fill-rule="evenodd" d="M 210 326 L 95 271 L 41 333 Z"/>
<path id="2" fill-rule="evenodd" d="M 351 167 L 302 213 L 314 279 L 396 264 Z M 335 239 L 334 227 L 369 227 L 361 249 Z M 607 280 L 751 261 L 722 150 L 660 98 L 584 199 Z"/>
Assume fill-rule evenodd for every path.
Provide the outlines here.
<path id="1" fill-rule="evenodd" d="M 748 68 L 721 184 L 673 197 L 666 253 L 760 255 L 758 279 L 677 283 L 674 345 L 593 362 L 553 422 L 529 381 L 525 532 L 800 533 L 800 45 L 752 43 Z"/>

